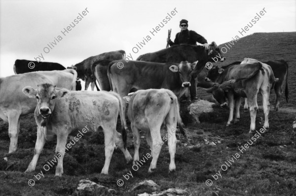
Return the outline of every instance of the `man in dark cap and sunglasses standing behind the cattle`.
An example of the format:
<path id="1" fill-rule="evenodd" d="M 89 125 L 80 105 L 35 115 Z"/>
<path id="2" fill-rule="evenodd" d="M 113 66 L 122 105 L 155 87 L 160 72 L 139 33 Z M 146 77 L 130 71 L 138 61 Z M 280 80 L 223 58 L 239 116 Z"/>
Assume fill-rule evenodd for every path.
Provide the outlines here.
<path id="1" fill-rule="evenodd" d="M 180 26 L 181 32 L 176 34 L 176 38 L 175 38 L 174 42 L 171 39 L 167 39 L 170 46 L 178 45 L 178 44 L 182 44 L 182 43 L 190 44 L 190 45 L 197 45 L 196 42 L 198 42 L 198 43 L 203 44 L 207 50 L 209 49 L 209 44 L 204 37 L 197 34 L 195 31 L 188 30 L 188 21 L 187 20 L 182 19 L 180 21 L 179 26 Z M 196 99 L 196 82 L 194 79 L 195 77 L 196 76 L 192 76 L 191 81 L 190 81 L 190 83 L 191 83 L 191 86 L 190 86 L 191 100 Z"/>

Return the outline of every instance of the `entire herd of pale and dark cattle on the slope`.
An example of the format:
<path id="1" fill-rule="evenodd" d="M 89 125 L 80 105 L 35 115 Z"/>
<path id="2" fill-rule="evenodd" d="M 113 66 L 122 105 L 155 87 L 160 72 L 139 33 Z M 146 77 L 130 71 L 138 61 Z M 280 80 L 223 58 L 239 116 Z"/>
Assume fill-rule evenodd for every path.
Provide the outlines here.
<path id="1" fill-rule="evenodd" d="M 208 69 L 205 67 L 207 62 L 225 60 L 215 42 L 210 44 L 209 50 L 203 46 L 181 44 L 141 55 L 136 61 L 124 59 L 125 52 L 117 50 L 89 57 L 68 69 L 58 63 L 16 60 L 16 75 L 0 78 L 0 118 L 9 123 L 9 153 L 17 150 L 20 116 L 34 112 L 36 118 L 37 141 L 34 157 L 26 172 L 35 170 L 45 141 L 52 140 L 56 135 L 56 155 L 59 157 L 56 176 L 61 176 L 67 138 L 70 134 L 76 135 L 78 138 L 74 137 L 74 140 L 77 141 L 82 137 L 78 130 L 85 126 L 91 131 L 103 129 L 104 174 L 108 174 L 114 145 L 119 147 L 127 162 L 132 159 L 134 163 L 139 161 L 140 130 L 147 132 L 152 156 L 148 172 L 152 172 L 161 150 L 159 144 L 163 144 L 160 129 L 165 128 L 170 134 L 169 170 L 173 171 L 176 169 L 177 124 L 186 136 L 179 113 L 179 101 L 186 89 L 196 91 L 196 87 L 205 88 L 222 107 L 227 106 L 228 99 L 230 112 L 227 125 L 240 118 L 241 98 L 244 97 L 244 108 L 250 111 L 250 132 L 256 128 L 258 92 L 262 97 L 265 129 L 269 128 L 270 90 L 275 90 L 275 110 L 279 108 L 285 80 L 287 102 L 289 99 L 288 64 L 285 61 L 262 63 L 245 58 L 242 62 Z M 34 69 L 28 67 L 30 62 L 35 63 Z M 81 85 L 77 88 L 80 84 L 77 78 L 85 80 L 85 90 L 90 83 L 93 90 L 98 80 L 102 91 L 74 91 L 81 90 Z M 135 93 L 128 97 L 130 92 Z M 134 135 L 134 158 L 126 149 L 126 102 L 129 102 L 128 118 Z M 234 107 L 236 114 L 233 119 Z M 118 113 L 121 134 L 116 131 Z"/>

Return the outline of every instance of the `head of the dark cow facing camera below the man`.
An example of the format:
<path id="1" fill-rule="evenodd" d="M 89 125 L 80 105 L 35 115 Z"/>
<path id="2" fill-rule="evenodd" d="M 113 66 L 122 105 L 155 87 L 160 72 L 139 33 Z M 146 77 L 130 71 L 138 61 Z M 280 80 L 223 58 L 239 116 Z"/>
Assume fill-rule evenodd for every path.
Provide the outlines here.
<path id="1" fill-rule="evenodd" d="M 191 74 L 192 74 L 192 70 L 195 68 L 197 62 L 198 61 L 196 61 L 194 63 L 188 63 L 188 61 L 181 61 L 181 63 L 178 66 L 176 66 L 176 65 L 170 66 L 169 69 L 172 72 L 179 72 L 182 87 L 191 86 L 191 84 L 190 84 Z"/>

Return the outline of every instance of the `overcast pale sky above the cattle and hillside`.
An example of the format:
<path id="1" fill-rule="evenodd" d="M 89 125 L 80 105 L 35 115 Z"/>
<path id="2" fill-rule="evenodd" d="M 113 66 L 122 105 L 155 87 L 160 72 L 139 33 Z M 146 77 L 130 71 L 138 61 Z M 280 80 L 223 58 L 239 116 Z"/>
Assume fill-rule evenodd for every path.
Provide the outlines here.
<path id="1" fill-rule="evenodd" d="M 266 13 L 241 36 L 238 31 L 263 8 Z M 181 19 L 219 45 L 257 32 L 295 32 L 296 0 L 0 0 L 0 77 L 14 75 L 16 59 L 34 60 L 41 53 L 41 61 L 65 67 L 120 49 L 135 60 L 165 48 L 168 29 L 174 40 Z M 153 36 L 149 31 L 161 22 Z M 145 45 L 133 50 L 138 42 Z"/>

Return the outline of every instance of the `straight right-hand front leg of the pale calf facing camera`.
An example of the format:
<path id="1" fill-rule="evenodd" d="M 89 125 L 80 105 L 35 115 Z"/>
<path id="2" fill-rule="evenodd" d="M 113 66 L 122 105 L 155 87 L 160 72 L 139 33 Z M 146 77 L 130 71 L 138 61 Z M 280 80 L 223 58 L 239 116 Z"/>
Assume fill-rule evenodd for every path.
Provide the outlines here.
<path id="1" fill-rule="evenodd" d="M 55 176 L 61 177 L 64 173 L 63 170 L 63 159 L 65 156 L 65 149 L 67 144 L 68 130 L 65 128 L 59 129 L 59 133 L 57 135 L 57 146 L 56 146 L 56 157 L 58 159 L 58 165 L 56 167 Z"/>

